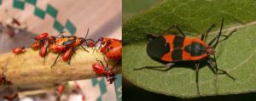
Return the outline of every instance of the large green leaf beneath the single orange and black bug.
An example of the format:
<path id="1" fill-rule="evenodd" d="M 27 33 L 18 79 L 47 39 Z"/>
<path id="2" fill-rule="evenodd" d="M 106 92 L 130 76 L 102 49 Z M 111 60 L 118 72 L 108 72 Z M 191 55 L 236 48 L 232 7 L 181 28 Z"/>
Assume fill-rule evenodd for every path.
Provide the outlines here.
<path id="1" fill-rule="evenodd" d="M 154 93 L 182 98 L 250 93 L 256 91 L 256 3 L 253 0 L 164 0 L 123 24 L 123 76 L 138 87 Z M 236 81 L 219 74 L 218 86 L 214 71 L 206 60 L 199 70 L 196 93 L 195 63 L 175 65 L 175 68 L 133 70 L 143 66 L 161 66 L 148 57 L 146 34 L 161 34 L 172 25 L 179 25 L 188 37 L 200 36 L 216 24 L 207 42 L 217 35 L 224 17 L 223 34 L 237 31 L 216 48 L 218 68 L 227 70 Z M 174 30 L 175 31 L 175 30 Z M 171 33 L 168 33 L 171 34 Z M 221 37 L 221 40 L 224 37 Z"/>

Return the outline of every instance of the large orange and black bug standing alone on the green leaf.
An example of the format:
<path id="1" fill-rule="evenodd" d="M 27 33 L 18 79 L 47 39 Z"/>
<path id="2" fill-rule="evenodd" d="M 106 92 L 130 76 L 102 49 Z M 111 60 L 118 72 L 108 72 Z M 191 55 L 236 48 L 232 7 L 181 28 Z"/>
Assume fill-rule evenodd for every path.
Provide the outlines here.
<path id="1" fill-rule="evenodd" d="M 150 35 L 151 37 L 153 37 L 153 39 L 148 42 L 148 46 L 147 46 L 148 56 L 154 60 L 169 63 L 163 67 L 171 67 L 172 65 L 174 65 L 174 63 L 177 63 L 180 61 L 195 61 L 196 88 L 197 88 L 197 93 L 200 94 L 199 84 L 198 84 L 198 71 L 199 71 L 199 65 L 200 65 L 201 59 L 207 59 L 207 62 L 212 66 L 212 68 L 215 68 L 216 86 L 218 84 L 218 70 L 220 69 L 218 69 L 218 66 L 217 66 L 214 49 L 218 45 L 219 37 L 222 36 L 221 31 L 222 31 L 223 25 L 224 25 L 224 19 L 222 20 L 218 36 L 215 36 L 212 39 L 212 41 L 209 42 L 208 44 L 206 42 L 203 42 L 204 37 L 207 35 L 209 31 L 211 31 L 212 27 L 214 27 L 215 25 L 210 26 L 206 31 L 206 33 L 203 33 L 201 35 L 201 39 L 186 37 L 183 34 L 183 31 L 177 25 L 172 25 L 172 27 L 169 28 L 167 31 L 170 31 L 173 27 L 176 27 L 177 31 L 179 31 L 183 36 L 175 36 L 175 35 L 163 36 L 167 31 L 164 31 L 160 36 Z M 212 46 L 213 42 L 215 42 L 215 44 Z M 213 55 L 213 59 L 210 58 L 210 55 Z M 134 70 L 141 70 L 143 68 L 137 68 Z M 162 67 L 158 66 L 158 67 L 152 67 L 152 68 L 162 68 Z M 230 74 L 228 74 L 225 70 L 220 70 L 220 71 L 223 71 L 227 76 L 229 76 L 233 80 L 236 80 L 236 78 L 230 76 Z"/>

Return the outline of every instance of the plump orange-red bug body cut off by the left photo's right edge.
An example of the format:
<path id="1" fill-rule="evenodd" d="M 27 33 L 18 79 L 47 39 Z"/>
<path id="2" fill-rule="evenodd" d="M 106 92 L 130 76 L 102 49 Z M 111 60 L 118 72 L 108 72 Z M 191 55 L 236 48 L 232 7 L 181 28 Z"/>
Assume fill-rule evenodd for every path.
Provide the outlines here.
<path id="1" fill-rule="evenodd" d="M 103 51 L 108 59 L 121 59 L 122 58 L 122 42 L 111 42 L 108 47 Z"/>

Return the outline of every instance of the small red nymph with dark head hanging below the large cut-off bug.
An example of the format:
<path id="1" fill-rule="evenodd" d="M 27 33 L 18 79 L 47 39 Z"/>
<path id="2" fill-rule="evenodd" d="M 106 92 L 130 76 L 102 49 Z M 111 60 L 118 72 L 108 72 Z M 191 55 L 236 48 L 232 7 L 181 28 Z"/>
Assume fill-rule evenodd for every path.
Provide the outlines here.
<path id="1" fill-rule="evenodd" d="M 113 70 L 116 67 L 116 65 L 112 69 L 108 70 L 108 62 L 106 61 L 105 57 L 104 57 L 104 60 L 107 63 L 107 67 L 105 65 L 103 65 L 101 60 L 98 60 L 98 59 L 96 59 L 96 60 L 98 62 L 100 62 L 101 64 L 93 64 L 92 69 L 94 71 L 96 71 L 97 75 L 106 76 L 107 81 L 110 81 L 110 84 L 112 84 L 113 81 L 116 79 L 116 76 L 114 75 L 114 73 L 111 70 Z"/>

